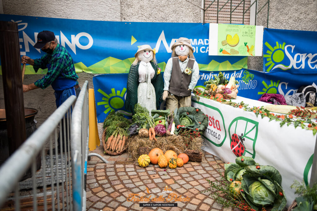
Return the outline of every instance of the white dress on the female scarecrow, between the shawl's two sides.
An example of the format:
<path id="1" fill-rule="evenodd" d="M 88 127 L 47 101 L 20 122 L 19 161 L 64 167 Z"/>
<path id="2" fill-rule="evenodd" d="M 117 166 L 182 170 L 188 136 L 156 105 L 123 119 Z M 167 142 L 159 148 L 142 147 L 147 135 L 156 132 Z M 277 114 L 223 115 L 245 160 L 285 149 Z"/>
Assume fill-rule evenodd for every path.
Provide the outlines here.
<path id="1" fill-rule="evenodd" d="M 151 111 L 156 109 L 155 89 L 151 83 L 155 71 L 150 62 L 140 61 L 139 64 L 139 86 L 138 86 L 138 103 L 145 107 L 150 115 Z"/>

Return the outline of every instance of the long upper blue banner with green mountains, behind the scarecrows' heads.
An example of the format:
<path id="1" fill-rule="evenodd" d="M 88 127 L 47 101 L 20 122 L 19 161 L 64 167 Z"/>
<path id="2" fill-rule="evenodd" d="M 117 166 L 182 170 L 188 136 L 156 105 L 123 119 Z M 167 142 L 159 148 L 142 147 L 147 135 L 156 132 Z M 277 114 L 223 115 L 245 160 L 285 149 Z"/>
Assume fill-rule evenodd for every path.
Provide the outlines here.
<path id="1" fill-rule="evenodd" d="M 179 37 L 191 40 L 200 70 L 247 68 L 247 57 L 208 55 L 209 24 L 110 22 L 15 15 L 0 15 L 0 20 L 18 24 L 21 55 L 32 59 L 44 54 L 33 47 L 37 34 L 43 30 L 53 31 L 58 42 L 71 53 L 78 72 L 128 72 L 138 46 L 144 44 L 155 47 L 159 67 L 164 70 L 171 57 L 171 46 Z M 30 65 L 26 67 L 26 74 L 35 74 Z"/>

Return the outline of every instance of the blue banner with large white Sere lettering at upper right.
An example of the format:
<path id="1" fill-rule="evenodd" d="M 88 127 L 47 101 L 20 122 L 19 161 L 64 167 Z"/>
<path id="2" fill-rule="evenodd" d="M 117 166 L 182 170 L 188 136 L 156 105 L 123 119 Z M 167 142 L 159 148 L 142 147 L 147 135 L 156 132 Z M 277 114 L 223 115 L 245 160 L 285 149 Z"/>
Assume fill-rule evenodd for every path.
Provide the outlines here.
<path id="1" fill-rule="evenodd" d="M 317 32 L 265 28 L 263 71 L 317 73 Z"/>

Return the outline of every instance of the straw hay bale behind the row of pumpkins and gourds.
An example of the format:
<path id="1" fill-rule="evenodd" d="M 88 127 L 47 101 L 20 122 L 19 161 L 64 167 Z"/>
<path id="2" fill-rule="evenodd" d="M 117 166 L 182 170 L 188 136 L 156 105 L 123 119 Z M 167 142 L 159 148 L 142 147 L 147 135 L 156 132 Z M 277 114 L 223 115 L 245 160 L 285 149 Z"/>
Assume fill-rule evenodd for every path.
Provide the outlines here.
<path id="1" fill-rule="evenodd" d="M 197 137 L 186 146 L 184 139 L 179 135 L 156 137 L 157 141 L 150 141 L 148 138 L 141 138 L 138 135 L 130 138 L 130 144 L 128 145 L 128 153 L 131 155 L 133 160 L 137 160 L 139 157 L 140 147 L 160 148 L 163 152 L 167 150 L 173 150 L 177 154 L 185 152 L 185 150 L 197 150 L 202 152 L 201 146 L 203 145 L 203 139 Z"/>

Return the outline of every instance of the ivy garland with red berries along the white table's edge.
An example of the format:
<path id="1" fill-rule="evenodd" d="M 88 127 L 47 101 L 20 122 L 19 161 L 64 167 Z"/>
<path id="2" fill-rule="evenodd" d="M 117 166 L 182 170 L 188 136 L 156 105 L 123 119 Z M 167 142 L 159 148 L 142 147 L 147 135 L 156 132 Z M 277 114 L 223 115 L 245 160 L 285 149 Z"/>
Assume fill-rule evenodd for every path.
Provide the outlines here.
<path id="1" fill-rule="evenodd" d="M 206 96 L 202 95 L 202 91 L 199 89 L 194 89 L 193 93 L 195 94 L 195 96 L 197 96 L 197 101 L 199 101 L 199 97 L 217 101 L 216 98 L 210 98 L 210 96 L 208 95 Z M 244 102 L 237 103 L 237 102 L 231 102 L 231 100 L 230 101 L 223 100 L 223 101 L 224 101 L 222 102 L 223 104 L 227 104 L 239 109 L 243 108 L 244 111 L 253 112 L 256 115 L 256 117 L 258 117 L 258 115 L 261 115 L 262 119 L 263 117 L 268 117 L 270 118 L 269 121 L 272 121 L 272 120 L 280 121 L 280 127 L 286 124 L 287 126 L 293 125 L 295 128 L 301 127 L 306 130 L 312 130 L 313 135 L 315 135 L 317 132 L 317 123 L 316 123 L 317 120 L 315 122 L 312 121 L 313 119 L 315 119 L 317 113 L 309 109 L 305 109 L 303 107 L 297 107 L 296 110 L 292 110 L 293 112 L 291 112 L 288 115 L 275 115 L 274 113 L 271 113 L 268 109 L 264 109 L 263 106 L 261 107 L 254 106 L 251 108 L 251 107 L 248 107 L 249 104 L 245 104 Z M 294 112 L 297 112 L 300 114 L 310 114 L 310 115 L 297 115 L 297 117 L 300 117 L 300 118 L 294 119 L 293 118 L 293 116 L 295 116 Z"/>

